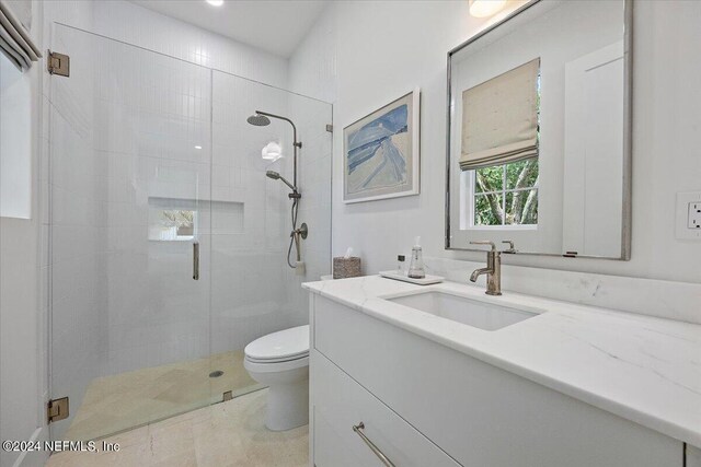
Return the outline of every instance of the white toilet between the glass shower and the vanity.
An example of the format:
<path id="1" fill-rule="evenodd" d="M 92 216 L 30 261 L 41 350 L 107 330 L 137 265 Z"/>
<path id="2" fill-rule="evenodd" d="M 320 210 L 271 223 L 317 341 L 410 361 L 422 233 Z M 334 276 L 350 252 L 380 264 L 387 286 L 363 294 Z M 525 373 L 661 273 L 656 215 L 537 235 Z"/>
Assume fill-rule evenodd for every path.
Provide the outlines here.
<path id="1" fill-rule="evenodd" d="M 309 423 L 309 325 L 263 336 L 243 352 L 251 377 L 268 386 L 265 425 L 283 431 Z"/>

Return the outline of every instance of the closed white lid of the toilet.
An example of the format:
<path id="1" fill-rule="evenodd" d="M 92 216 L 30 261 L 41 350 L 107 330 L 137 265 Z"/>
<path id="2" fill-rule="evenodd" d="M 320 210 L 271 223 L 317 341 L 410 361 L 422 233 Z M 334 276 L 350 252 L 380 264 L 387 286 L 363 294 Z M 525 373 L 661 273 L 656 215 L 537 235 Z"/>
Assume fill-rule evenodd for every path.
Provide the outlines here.
<path id="1" fill-rule="evenodd" d="M 309 353 L 309 325 L 268 334 L 245 346 L 243 350 L 253 360 L 291 360 Z"/>

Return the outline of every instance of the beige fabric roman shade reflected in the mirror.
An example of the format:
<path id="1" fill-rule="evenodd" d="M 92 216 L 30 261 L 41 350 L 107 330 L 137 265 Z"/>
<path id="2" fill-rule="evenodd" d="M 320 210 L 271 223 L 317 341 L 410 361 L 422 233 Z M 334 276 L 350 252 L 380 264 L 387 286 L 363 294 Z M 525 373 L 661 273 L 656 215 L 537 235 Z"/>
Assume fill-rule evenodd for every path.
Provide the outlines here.
<path id="1" fill-rule="evenodd" d="M 540 58 L 462 92 L 460 168 L 538 155 Z"/>

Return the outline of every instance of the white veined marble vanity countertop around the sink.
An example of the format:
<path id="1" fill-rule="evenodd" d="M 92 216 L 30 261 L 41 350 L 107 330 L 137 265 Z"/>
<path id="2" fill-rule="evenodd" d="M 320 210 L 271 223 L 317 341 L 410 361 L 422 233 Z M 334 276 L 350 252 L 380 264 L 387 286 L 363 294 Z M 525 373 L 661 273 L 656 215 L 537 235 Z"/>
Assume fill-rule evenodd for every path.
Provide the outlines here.
<path id="1" fill-rule="evenodd" d="M 457 282 L 414 285 L 379 276 L 302 287 L 470 357 L 701 446 L 701 325 Z M 445 291 L 539 312 L 486 331 L 382 297 Z"/>

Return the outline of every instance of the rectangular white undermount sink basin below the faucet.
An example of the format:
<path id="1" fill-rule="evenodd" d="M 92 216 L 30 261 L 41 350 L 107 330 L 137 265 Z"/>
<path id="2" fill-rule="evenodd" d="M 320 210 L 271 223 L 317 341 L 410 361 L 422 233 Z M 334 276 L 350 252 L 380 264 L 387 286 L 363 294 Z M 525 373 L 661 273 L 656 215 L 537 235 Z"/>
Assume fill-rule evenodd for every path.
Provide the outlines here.
<path id="1" fill-rule="evenodd" d="M 502 329 L 538 316 L 538 313 L 480 302 L 439 291 L 426 291 L 386 300 L 484 330 Z"/>

